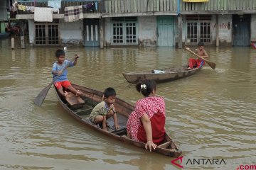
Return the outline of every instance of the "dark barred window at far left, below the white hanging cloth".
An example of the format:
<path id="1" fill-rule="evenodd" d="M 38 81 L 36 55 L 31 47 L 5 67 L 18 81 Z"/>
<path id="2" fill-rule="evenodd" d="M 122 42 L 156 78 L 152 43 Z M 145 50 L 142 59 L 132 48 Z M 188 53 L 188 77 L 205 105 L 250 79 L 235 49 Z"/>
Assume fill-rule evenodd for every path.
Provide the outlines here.
<path id="1" fill-rule="evenodd" d="M 60 45 L 58 23 L 36 23 L 36 45 Z"/>

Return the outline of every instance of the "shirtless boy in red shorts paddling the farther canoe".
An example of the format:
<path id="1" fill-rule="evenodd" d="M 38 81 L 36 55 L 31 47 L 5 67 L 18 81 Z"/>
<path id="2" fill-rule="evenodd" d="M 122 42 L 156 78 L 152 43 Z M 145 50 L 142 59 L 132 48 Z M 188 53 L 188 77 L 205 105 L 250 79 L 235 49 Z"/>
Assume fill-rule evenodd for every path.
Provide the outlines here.
<path id="1" fill-rule="evenodd" d="M 198 49 L 196 49 L 195 53 L 198 54 L 203 59 L 206 59 L 209 56 L 208 56 L 206 50 L 204 50 L 203 46 L 204 46 L 203 42 L 198 42 Z M 204 64 L 205 64 L 205 62 L 203 60 L 199 59 L 199 58 L 198 59 L 190 58 L 188 60 L 188 68 L 187 68 L 187 70 L 194 69 L 194 68 L 200 68 Z"/>

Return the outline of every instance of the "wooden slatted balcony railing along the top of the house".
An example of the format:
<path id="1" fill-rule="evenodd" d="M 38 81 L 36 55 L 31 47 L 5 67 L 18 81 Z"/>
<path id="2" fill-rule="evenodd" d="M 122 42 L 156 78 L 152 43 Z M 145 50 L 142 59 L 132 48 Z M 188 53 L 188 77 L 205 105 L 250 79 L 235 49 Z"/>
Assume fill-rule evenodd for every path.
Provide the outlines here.
<path id="1" fill-rule="evenodd" d="M 18 0 L 26 6 L 47 7 L 48 0 Z M 66 6 L 79 6 L 95 0 L 63 0 L 60 13 Z M 183 0 L 98 0 L 97 9 L 84 10 L 84 13 L 125 14 L 125 13 L 256 13 L 256 0 L 209 0 L 208 2 L 183 2 Z M 27 14 L 18 11 L 18 14 Z"/>

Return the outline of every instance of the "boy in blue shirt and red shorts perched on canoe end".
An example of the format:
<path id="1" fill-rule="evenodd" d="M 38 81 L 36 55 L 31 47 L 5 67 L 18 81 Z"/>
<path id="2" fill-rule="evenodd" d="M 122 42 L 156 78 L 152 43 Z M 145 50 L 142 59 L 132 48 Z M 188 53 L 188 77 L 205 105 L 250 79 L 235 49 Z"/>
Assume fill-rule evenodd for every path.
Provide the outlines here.
<path id="1" fill-rule="evenodd" d="M 53 63 L 53 70 L 52 70 L 53 79 L 55 79 L 55 77 L 57 77 L 58 74 L 60 74 L 60 77 L 58 77 L 54 81 L 54 86 L 56 87 L 58 92 L 65 98 L 68 98 L 68 92 L 63 91 L 63 88 L 64 90 L 68 89 L 73 94 L 75 94 L 75 96 L 79 96 L 81 94 L 80 91 L 76 90 L 71 85 L 70 81 L 68 81 L 68 77 L 67 77 L 68 69 L 63 70 L 63 68 L 65 68 L 66 66 L 73 67 L 77 64 L 79 55 L 75 55 L 75 56 L 76 56 L 75 60 L 73 62 L 70 62 L 69 60 L 65 60 L 65 52 L 63 50 L 56 50 L 55 52 L 55 57 L 57 61 Z"/>

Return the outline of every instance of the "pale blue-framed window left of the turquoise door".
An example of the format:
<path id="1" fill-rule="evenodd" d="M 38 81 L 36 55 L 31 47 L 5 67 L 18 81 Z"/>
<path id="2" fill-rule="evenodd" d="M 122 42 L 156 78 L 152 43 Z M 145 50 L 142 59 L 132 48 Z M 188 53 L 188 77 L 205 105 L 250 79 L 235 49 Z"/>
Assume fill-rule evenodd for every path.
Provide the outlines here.
<path id="1" fill-rule="evenodd" d="M 137 44 L 137 18 L 112 18 L 112 45 Z"/>

